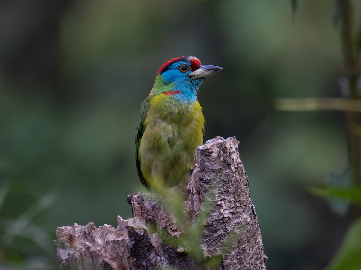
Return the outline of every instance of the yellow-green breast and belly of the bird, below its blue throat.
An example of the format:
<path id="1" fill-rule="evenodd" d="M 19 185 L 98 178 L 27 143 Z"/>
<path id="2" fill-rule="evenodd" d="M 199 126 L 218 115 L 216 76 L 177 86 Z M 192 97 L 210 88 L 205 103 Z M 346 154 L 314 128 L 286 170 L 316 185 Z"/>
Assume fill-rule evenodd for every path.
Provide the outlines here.
<path id="1" fill-rule="evenodd" d="M 179 103 L 174 95 L 149 97 L 140 141 L 142 174 L 151 186 L 170 187 L 186 180 L 194 153 L 203 144 L 204 116 L 198 101 Z"/>

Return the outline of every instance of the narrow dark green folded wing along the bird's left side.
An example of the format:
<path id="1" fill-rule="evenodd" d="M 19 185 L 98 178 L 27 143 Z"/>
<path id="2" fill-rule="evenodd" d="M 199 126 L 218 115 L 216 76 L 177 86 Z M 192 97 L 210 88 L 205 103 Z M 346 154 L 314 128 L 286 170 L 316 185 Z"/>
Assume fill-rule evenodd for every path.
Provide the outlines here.
<path id="1" fill-rule="evenodd" d="M 140 106 L 140 114 L 138 118 L 138 125 L 136 126 L 136 133 L 135 133 L 135 162 L 136 162 L 136 170 L 138 171 L 138 176 L 142 184 L 148 189 L 150 188 L 147 184 L 147 181 L 145 180 L 142 169 L 140 168 L 140 156 L 139 156 L 139 147 L 140 147 L 140 141 L 142 140 L 143 134 L 145 129 L 147 128 L 145 126 L 144 120 L 145 120 L 145 114 L 147 113 L 149 107 L 149 101 L 148 98 L 145 99 Z"/>

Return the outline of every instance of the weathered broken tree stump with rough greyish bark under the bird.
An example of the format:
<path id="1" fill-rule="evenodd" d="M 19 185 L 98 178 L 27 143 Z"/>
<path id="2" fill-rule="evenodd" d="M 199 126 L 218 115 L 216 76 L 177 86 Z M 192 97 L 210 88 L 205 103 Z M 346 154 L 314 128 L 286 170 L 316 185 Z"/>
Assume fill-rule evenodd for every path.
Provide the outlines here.
<path id="1" fill-rule="evenodd" d="M 235 138 L 216 137 L 197 148 L 183 216 L 192 224 L 208 213 L 199 243 L 205 259 L 221 258 L 217 269 L 266 269 L 267 256 L 238 143 Z M 172 192 L 177 190 L 184 192 L 184 188 Z M 187 233 L 186 226 L 167 210 L 166 201 L 148 193 L 133 193 L 127 199 L 134 217 L 118 216 L 116 229 L 96 228 L 92 222 L 57 229 L 56 254 L 62 269 L 209 269 L 206 261 L 200 264 L 193 259 L 192 250 L 181 242 L 170 246 L 158 237 L 160 230 L 175 239 Z"/>

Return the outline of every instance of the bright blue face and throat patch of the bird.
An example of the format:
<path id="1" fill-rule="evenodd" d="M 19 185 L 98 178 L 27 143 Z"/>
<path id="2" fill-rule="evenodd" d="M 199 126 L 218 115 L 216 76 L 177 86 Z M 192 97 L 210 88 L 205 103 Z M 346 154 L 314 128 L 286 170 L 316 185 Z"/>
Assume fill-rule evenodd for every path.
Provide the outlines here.
<path id="1" fill-rule="evenodd" d="M 184 102 L 195 102 L 197 92 L 202 84 L 203 78 L 192 79 L 188 77 L 193 72 L 191 63 L 188 61 L 177 61 L 168 70 L 162 73 L 165 84 L 174 83 L 174 90 L 180 90 L 181 93 L 175 95 Z"/>

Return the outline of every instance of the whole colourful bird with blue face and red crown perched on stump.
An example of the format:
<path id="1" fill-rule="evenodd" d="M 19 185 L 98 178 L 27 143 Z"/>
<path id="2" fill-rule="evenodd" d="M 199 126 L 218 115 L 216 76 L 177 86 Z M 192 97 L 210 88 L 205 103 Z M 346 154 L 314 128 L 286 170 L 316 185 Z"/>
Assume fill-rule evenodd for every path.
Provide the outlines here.
<path id="1" fill-rule="evenodd" d="M 158 70 L 154 86 L 140 107 L 135 134 L 136 168 L 148 191 L 187 180 L 195 165 L 195 150 L 204 138 L 199 87 L 203 78 L 221 70 L 183 55 Z"/>

